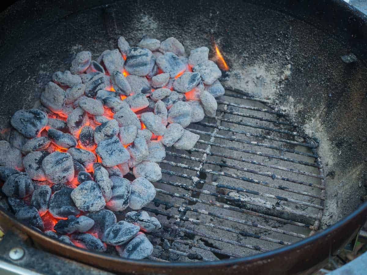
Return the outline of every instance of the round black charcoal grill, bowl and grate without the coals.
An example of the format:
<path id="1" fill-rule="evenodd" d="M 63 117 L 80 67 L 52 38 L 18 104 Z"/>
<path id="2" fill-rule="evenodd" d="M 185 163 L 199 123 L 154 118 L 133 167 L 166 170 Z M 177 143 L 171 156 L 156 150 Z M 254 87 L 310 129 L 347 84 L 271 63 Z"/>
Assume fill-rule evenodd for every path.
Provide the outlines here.
<path id="1" fill-rule="evenodd" d="M 61 66 L 66 68 L 74 48 L 99 52 L 106 45 L 114 47 L 112 41 L 122 32 L 137 40 L 144 33 L 160 38 L 173 32 L 185 46 L 195 48 L 213 40 L 221 46 L 232 69 L 222 79 L 226 93 L 218 100 L 217 116 L 188 127 L 200 135 L 194 149 L 167 150 L 161 164 L 163 178 L 155 183 L 157 196 L 144 208 L 163 226 L 149 234 L 155 248 L 152 256 L 134 261 L 73 248 L 33 231 L 2 211 L 1 226 L 8 232 L 17 228 L 19 235 L 29 236 L 33 244 L 49 252 L 113 272 L 272 274 L 317 268 L 353 239 L 366 220 L 366 204 L 355 210 L 363 188 L 356 190 L 354 186 L 356 182 L 363 185 L 366 177 L 360 172 L 365 168 L 363 156 L 357 155 L 367 152 L 361 139 L 367 125 L 361 113 L 364 98 L 356 92 L 365 92 L 360 77 L 366 73 L 363 15 L 342 1 L 234 1 L 226 9 L 219 1 L 163 2 L 103 1 L 101 5 L 89 1 L 76 7 L 68 1 L 52 5 L 20 1 L 1 17 L 4 46 L 0 57 L 6 73 L 0 83 L 7 94 L 0 99 L 3 121 L 15 110 L 34 104 L 50 78 L 44 71 L 52 74 Z M 156 16 L 162 11 L 167 11 L 165 20 Z M 8 23 L 13 16 L 19 18 L 18 24 Z M 172 22 L 176 22 L 174 27 Z M 195 24 L 198 22 L 200 26 Z M 333 35 L 327 33 L 330 29 Z M 31 30 L 42 31 L 31 35 Z M 40 52 L 40 47 L 44 51 Z M 19 51 L 24 53 L 23 59 L 19 59 Z M 350 52 L 361 61 L 344 64 L 340 57 Z M 281 62 L 281 66 L 292 60 L 291 79 L 283 78 L 284 85 L 274 83 L 283 85 L 281 92 L 263 93 L 264 83 L 273 79 L 257 82 L 251 90 L 232 85 L 233 79 L 241 79 L 241 68 L 264 62 L 262 55 Z M 313 61 L 305 64 L 304 60 Z M 7 80 L 10 78 L 12 82 Z M 32 97 L 15 83 L 34 87 L 27 90 Z M 315 93 L 315 89 L 320 92 Z M 353 100 L 362 104 L 351 110 L 349 102 Z M 303 109 L 295 112 L 289 108 L 293 104 Z M 316 136 L 312 131 L 306 133 L 303 127 L 313 111 L 320 109 L 326 110 L 320 123 L 326 125 L 327 137 L 317 137 L 320 131 L 316 129 L 311 129 Z M 348 125 L 345 133 L 340 130 L 345 127 L 342 119 L 350 112 L 359 116 L 358 121 L 350 118 L 359 128 Z M 6 138 L 6 124 L 0 129 Z M 325 152 L 322 142 L 330 138 L 342 142 L 337 148 L 345 146 L 348 151 L 337 154 L 334 164 L 329 163 L 329 156 L 320 154 Z M 327 167 L 327 174 L 325 163 L 332 166 Z M 330 185 L 336 182 L 335 168 L 340 169 L 339 174 L 356 174 L 355 178 L 348 174 L 350 182 L 344 183 L 355 194 L 333 198 L 335 189 Z M 333 200 L 342 210 L 335 210 L 335 217 L 330 217 Z M 352 210 L 344 220 L 316 233 Z M 0 248 L 2 259 L 7 261 L 8 248 Z M 30 261 L 20 265 L 37 268 Z"/>

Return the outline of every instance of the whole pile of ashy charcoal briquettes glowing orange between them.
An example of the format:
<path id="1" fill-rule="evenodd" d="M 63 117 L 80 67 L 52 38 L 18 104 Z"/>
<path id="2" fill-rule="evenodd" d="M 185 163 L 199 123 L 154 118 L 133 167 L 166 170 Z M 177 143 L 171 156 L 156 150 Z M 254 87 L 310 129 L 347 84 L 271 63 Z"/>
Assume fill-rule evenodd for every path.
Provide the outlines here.
<path id="1" fill-rule="evenodd" d="M 187 58 L 173 37 L 137 47 L 120 37 L 97 61 L 79 52 L 39 104 L 12 116 L 9 141 L 0 141 L 0 206 L 67 244 L 148 257 L 144 233 L 161 224 L 137 211 L 156 196 L 165 146 L 192 149 L 199 135 L 185 128 L 214 117 L 224 94 L 208 53 L 201 47 Z"/>

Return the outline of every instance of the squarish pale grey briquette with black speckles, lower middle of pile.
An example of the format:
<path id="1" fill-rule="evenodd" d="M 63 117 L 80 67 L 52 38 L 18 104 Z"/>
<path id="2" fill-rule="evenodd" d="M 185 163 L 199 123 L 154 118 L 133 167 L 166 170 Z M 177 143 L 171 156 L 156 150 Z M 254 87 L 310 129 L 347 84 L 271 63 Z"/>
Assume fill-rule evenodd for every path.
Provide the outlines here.
<path id="1" fill-rule="evenodd" d="M 95 212 L 105 207 L 106 202 L 94 181 L 85 181 L 78 185 L 70 195 L 81 211 Z"/>

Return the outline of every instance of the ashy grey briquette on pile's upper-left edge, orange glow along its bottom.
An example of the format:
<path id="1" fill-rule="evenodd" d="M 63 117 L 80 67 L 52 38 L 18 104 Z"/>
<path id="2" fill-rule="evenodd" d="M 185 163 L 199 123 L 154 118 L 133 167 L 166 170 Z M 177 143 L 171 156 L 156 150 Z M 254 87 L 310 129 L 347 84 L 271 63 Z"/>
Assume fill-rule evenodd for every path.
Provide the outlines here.
<path id="1" fill-rule="evenodd" d="M 42 104 L 52 112 L 59 114 L 66 101 L 66 93 L 54 82 L 48 82 L 45 90 L 41 93 Z"/>

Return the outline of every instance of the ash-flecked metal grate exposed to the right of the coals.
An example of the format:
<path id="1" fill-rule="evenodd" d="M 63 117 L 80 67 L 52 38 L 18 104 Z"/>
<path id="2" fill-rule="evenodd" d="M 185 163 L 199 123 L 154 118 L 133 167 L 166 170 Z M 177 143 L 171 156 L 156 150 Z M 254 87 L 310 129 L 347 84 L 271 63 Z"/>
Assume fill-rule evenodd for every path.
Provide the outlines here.
<path id="1" fill-rule="evenodd" d="M 317 142 L 268 100 L 226 89 L 216 118 L 189 126 L 196 148 L 167 150 L 144 210 L 151 260 L 209 261 L 266 252 L 314 234 L 325 200 Z"/>

